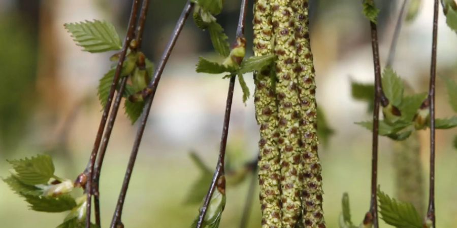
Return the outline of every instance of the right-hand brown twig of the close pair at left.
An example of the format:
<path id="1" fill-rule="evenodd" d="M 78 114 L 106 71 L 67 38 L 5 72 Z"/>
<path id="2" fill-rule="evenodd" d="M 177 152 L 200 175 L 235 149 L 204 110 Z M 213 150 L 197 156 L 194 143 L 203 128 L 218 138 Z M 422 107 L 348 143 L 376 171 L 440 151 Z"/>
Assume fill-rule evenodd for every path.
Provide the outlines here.
<path id="1" fill-rule="evenodd" d="M 140 49 L 141 42 L 142 42 L 142 35 L 144 31 L 144 24 L 146 22 L 146 16 L 149 6 L 149 0 L 144 0 L 141 7 L 141 13 L 139 17 L 139 22 L 137 26 L 137 33 L 136 33 L 136 49 Z M 95 209 L 95 224 L 100 226 L 100 190 L 99 190 L 99 180 L 100 180 L 100 173 L 103 165 L 103 160 L 105 158 L 106 149 L 108 147 L 108 142 L 111 137 L 111 132 L 114 127 L 114 122 L 116 121 L 117 112 L 119 110 L 120 101 L 122 95 L 124 93 L 125 84 L 127 82 L 127 78 L 123 78 L 120 83 L 119 91 L 117 92 L 117 96 L 115 102 L 113 104 L 113 108 L 110 113 L 110 118 L 108 120 L 108 126 L 105 131 L 105 135 L 102 140 L 102 145 L 100 146 L 99 156 L 97 159 L 97 164 L 95 166 L 95 170 L 93 173 L 93 195 L 94 195 L 94 209 Z"/>

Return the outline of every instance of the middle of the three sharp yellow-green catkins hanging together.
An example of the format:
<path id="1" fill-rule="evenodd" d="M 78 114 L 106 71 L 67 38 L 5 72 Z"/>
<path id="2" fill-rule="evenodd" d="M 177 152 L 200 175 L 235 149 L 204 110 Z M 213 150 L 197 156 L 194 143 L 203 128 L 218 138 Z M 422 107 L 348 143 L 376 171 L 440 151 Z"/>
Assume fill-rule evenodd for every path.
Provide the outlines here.
<path id="1" fill-rule="evenodd" d="M 278 100 L 278 148 L 281 154 L 282 225 L 295 227 L 301 214 L 300 100 L 295 82 L 296 47 L 292 0 L 272 1 L 272 23 L 276 59 L 276 94 Z"/>

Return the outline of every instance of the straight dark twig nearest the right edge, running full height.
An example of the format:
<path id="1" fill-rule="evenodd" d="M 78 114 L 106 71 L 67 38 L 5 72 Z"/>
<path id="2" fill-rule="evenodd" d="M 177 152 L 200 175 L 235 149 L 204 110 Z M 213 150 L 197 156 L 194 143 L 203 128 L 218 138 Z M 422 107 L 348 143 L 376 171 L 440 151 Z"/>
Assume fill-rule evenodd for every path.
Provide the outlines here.
<path id="1" fill-rule="evenodd" d="M 438 42 L 438 8 L 439 2 L 435 0 L 433 12 L 433 40 L 432 40 L 432 61 L 430 63 L 430 186 L 429 186 L 429 207 L 427 220 L 430 220 L 433 227 L 436 227 L 435 219 L 435 79 L 436 79 L 436 50 Z"/>

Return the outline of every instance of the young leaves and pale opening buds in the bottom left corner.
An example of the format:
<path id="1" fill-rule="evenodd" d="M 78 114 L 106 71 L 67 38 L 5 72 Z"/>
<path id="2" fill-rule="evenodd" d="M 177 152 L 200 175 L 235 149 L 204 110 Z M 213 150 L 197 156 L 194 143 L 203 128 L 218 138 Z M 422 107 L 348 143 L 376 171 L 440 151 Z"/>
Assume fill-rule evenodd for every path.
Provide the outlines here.
<path id="1" fill-rule="evenodd" d="M 58 228 L 85 227 L 86 195 L 74 198 L 73 181 L 54 174 L 54 164 L 48 155 L 8 161 L 13 170 L 3 181 L 24 198 L 31 210 L 40 212 L 70 211 Z M 91 227 L 96 227 L 92 224 Z"/>

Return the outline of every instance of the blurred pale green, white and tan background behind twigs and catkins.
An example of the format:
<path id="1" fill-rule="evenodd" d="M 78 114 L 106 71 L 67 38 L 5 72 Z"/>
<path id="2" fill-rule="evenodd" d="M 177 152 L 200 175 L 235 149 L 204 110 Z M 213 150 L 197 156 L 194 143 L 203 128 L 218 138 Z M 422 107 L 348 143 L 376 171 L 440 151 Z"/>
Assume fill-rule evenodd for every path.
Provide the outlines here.
<path id="1" fill-rule="evenodd" d="M 353 122 L 368 120 L 370 115 L 366 113 L 366 104 L 350 96 L 351 80 L 369 83 L 373 78 L 369 23 L 359 2 L 311 1 L 318 103 L 335 131 L 329 144 L 321 146 L 319 152 L 328 227 L 338 227 L 343 192 L 350 195 L 352 220 L 356 223 L 369 207 L 371 133 Z M 382 65 L 400 2 L 377 3 L 381 9 Z M 151 1 L 143 45 L 151 60 L 160 57 L 184 3 Z M 218 17 L 230 39 L 234 39 L 238 9 L 239 1 L 225 1 L 224 12 Z M 109 68 L 108 56 L 112 53 L 81 52 L 63 24 L 102 19 L 113 22 L 123 36 L 129 10 L 129 1 L 121 0 L 0 1 L 1 177 L 9 175 L 6 159 L 41 153 L 52 155 L 59 176 L 74 179 L 85 168 L 101 117 L 96 86 Z M 393 65 L 417 92 L 427 91 L 428 87 L 432 14 L 432 2 L 424 1 L 417 17 L 404 24 Z M 248 21 L 251 20 L 249 15 Z M 248 29 L 248 41 L 251 33 Z M 214 53 L 208 34 L 189 20 L 162 75 L 152 106 L 122 217 L 128 227 L 188 227 L 198 213 L 199 205 L 184 203 L 200 175 L 188 153 L 197 151 L 209 167 L 215 167 L 228 84 L 221 77 L 194 72 L 198 57 L 211 55 Z M 457 35 L 447 28 L 440 14 L 438 75 L 457 80 L 456 59 Z M 252 77 L 245 78 L 253 92 Z M 449 117 L 453 113 L 440 78 L 437 87 L 437 116 Z M 235 90 L 228 153 L 233 163 L 240 165 L 255 158 L 259 136 L 253 99 L 245 105 L 241 89 Z M 102 170 L 104 225 L 111 220 L 136 127 L 125 116 L 118 116 Z M 457 223 L 457 151 L 452 147 L 455 134 L 456 130 L 437 132 L 439 227 L 454 227 Z M 428 131 L 421 131 L 419 138 L 421 162 L 427 174 Z M 380 140 L 379 183 L 383 191 L 395 196 L 392 144 L 386 138 Z M 248 182 L 228 187 L 221 227 L 239 227 Z M 64 216 L 28 210 L 26 203 L 0 182 L 2 227 L 55 227 Z M 249 227 L 259 227 L 259 218 L 258 197 L 254 197 Z"/>

